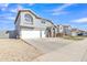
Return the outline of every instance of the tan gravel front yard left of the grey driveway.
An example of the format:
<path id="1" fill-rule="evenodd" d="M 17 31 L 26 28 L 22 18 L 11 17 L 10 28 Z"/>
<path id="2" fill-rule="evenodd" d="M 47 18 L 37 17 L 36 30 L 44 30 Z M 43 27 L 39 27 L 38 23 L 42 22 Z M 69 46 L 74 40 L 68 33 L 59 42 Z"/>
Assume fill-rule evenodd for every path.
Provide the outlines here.
<path id="1" fill-rule="evenodd" d="M 0 61 L 31 61 L 43 54 L 21 40 L 0 40 Z"/>

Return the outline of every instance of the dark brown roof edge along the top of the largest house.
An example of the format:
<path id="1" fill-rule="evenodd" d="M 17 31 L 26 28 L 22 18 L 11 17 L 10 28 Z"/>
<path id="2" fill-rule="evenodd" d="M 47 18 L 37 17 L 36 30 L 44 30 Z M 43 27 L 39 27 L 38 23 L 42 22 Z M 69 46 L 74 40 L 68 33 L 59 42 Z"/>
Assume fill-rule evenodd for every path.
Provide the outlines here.
<path id="1" fill-rule="evenodd" d="M 14 24 L 17 23 L 17 20 L 18 20 L 18 18 L 19 18 L 19 15 L 20 15 L 21 12 L 31 12 L 36 19 L 43 19 L 43 18 L 37 17 L 31 10 L 19 10 L 18 15 L 17 15 L 15 21 L 14 21 Z M 51 20 L 47 20 L 47 19 L 43 19 L 43 20 L 46 20 L 46 21 L 48 21 L 50 23 L 52 23 L 54 25 L 54 23 Z"/>

